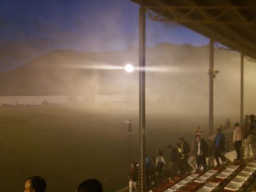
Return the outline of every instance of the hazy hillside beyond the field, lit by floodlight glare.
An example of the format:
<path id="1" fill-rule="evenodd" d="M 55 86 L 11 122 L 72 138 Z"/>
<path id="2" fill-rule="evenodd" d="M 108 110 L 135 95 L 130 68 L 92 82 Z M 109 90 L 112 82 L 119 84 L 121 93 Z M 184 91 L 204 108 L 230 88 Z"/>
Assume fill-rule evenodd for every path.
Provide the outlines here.
<path id="1" fill-rule="evenodd" d="M 146 49 L 148 112 L 202 115 L 208 113 L 208 46 L 158 44 Z M 215 49 L 214 107 L 223 120 L 239 118 L 240 55 Z M 138 71 L 126 73 L 127 62 L 138 66 L 138 48 L 104 53 L 56 50 L 21 68 L 0 73 L 0 95 L 138 95 Z M 245 113 L 256 113 L 256 64 L 245 60 Z M 133 105 L 136 107 L 137 105 Z"/>

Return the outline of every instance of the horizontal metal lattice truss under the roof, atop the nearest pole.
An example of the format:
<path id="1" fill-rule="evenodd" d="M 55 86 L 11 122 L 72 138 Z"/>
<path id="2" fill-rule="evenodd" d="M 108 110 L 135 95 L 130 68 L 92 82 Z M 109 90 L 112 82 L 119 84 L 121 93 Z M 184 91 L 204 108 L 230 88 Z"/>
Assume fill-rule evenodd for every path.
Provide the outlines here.
<path id="1" fill-rule="evenodd" d="M 242 14 L 243 11 L 255 13 L 256 6 L 145 6 L 144 8 L 149 17 L 155 21 L 208 25 L 256 25 L 255 18 L 247 19 Z M 165 17 L 166 14 L 168 17 Z"/>

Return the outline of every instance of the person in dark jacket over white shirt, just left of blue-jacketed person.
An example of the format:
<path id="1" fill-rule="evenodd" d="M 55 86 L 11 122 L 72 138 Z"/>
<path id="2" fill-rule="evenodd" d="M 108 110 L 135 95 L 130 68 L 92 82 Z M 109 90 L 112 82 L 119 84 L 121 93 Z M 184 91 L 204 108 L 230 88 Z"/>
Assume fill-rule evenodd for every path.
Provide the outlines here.
<path id="1" fill-rule="evenodd" d="M 197 143 L 197 146 L 196 146 L 197 169 L 200 169 L 200 166 L 202 165 L 204 168 L 204 171 L 206 171 L 207 170 L 206 156 L 208 152 L 208 144 L 199 135 L 196 136 L 196 143 Z"/>

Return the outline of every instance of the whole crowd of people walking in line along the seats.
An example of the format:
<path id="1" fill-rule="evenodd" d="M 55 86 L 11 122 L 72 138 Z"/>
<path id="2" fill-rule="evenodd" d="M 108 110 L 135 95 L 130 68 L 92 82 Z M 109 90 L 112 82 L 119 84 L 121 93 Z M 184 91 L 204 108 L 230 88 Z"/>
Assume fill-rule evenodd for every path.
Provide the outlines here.
<path id="1" fill-rule="evenodd" d="M 175 145 L 169 145 L 169 155 L 166 161 L 161 150 L 157 150 L 156 156 L 146 156 L 146 183 L 148 189 L 152 186 L 160 185 L 163 181 L 169 179 L 174 182 L 179 175 L 185 173 L 195 173 L 198 170 L 207 171 L 210 159 L 215 159 L 216 166 L 228 162 L 224 155 L 226 152 L 226 138 L 223 133 L 231 130 L 231 122 L 226 120 L 225 126 L 220 126 L 216 130 L 216 135 L 210 138 L 204 138 L 200 127 L 194 130 L 194 136 L 191 144 L 184 138 L 180 138 Z M 249 124 L 240 126 L 239 123 L 234 124 L 232 130 L 232 141 L 236 152 L 236 162 L 242 160 L 242 149 L 245 151 L 246 157 L 256 158 L 256 121 L 255 116 L 250 115 Z M 212 152 L 211 152 L 212 151 Z M 208 156 L 208 162 L 207 162 Z M 213 160 L 214 161 L 214 160 Z M 166 163 L 168 162 L 168 163 Z M 138 170 L 133 163 L 130 170 L 130 192 L 137 190 Z M 134 176 L 135 175 L 135 176 Z"/>

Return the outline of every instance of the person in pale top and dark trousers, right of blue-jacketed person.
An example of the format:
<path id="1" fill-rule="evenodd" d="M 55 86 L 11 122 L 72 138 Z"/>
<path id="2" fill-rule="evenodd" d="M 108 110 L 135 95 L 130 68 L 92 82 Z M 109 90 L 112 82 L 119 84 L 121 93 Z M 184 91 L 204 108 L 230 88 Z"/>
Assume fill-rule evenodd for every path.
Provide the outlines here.
<path id="1" fill-rule="evenodd" d="M 243 131 L 238 123 L 235 123 L 234 133 L 233 133 L 233 142 L 236 151 L 236 159 L 241 160 L 240 148 L 242 146 Z"/>

